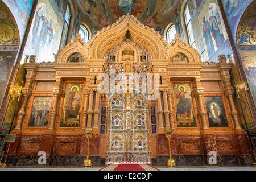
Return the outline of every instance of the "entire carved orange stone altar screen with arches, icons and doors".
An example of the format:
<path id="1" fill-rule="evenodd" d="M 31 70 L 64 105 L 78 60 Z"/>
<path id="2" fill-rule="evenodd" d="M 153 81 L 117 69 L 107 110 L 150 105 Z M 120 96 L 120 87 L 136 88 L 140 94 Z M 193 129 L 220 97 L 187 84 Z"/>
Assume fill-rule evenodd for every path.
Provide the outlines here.
<path id="1" fill-rule="evenodd" d="M 208 164 L 210 151 L 217 152 L 222 164 L 250 163 L 252 150 L 225 58 L 203 63 L 179 35 L 168 44 L 159 32 L 127 15 L 102 28 L 88 44 L 77 34 L 55 59 L 24 64 L 26 84 L 10 148 L 10 158 L 16 160 L 9 163 L 26 166 L 24 156 L 36 159 L 43 150 L 51 156 L 48 166 L 81 166 L 87 154 L 85 131 L 91 131 L 93 166 L 125 162 L 128 155 L 131 162 L 165 166 L 164 133 L 169 129 L 174 131 L 171 154 L 177 165 Z M 121 93 L 99 93 L 100 73 L 109 78 L 123 73 L 127 82 L 129 74 L 138 73 L 138 93 L 130 85 L 121 86 Z M 147 73 L 159 82 L 154 87 L 159 92 L 147 93 Z M 150 99 L 152 95 L 158 97 Z"/>

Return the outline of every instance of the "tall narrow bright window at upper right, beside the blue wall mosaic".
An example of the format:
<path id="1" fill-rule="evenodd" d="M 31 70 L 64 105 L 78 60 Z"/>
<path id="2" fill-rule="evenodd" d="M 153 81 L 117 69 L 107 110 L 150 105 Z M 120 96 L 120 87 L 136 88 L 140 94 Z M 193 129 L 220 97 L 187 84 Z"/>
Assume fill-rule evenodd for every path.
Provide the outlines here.
<path id="1" fill-rule="evenodd" d="M 191 23 L 191 16 L 188 10 L 188 3 L 185 5 L 184 19 L 185 19 L 185 26 L 187 29 L 189 45 L 193 46 L 196 49 L 196 41 L 195 41 L 195 36 L 194 36 L 193 27 Z"/>

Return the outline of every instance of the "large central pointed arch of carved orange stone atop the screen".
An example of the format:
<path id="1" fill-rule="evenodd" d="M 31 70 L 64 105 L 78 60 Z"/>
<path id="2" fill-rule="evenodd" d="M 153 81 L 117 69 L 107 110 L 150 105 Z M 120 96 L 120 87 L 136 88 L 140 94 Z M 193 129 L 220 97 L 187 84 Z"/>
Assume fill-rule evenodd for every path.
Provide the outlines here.
<path id="1" fill-rule="evenodd" d="M 131 40 L 148 49 L 153 59 L 164 59 L 164 39 L 159 32 L 141 24 L 134 16 L 122 16 L 116 23 L 93 35 L 89 42 L 90 58 L 102 59 L 110 47 L 125 40 L 127 30 L 131 33 Z M 104 34 L 102 34 L 104 32 Z"/>

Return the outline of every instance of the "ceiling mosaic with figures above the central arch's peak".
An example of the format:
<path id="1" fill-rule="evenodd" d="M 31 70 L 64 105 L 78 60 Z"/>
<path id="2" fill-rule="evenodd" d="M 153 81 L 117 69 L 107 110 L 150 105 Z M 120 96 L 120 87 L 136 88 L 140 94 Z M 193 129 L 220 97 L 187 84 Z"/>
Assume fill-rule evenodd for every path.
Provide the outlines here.
<path id="1" fill-rule="evenodd" d="M 92 34 L 116 22 L 123 15 L 133 15 L 144 25 L 163 34 L 164 28 L 174 22 L 174 12 L 180 0 L 77 0 L 85 14 L 82 22 Z"/>

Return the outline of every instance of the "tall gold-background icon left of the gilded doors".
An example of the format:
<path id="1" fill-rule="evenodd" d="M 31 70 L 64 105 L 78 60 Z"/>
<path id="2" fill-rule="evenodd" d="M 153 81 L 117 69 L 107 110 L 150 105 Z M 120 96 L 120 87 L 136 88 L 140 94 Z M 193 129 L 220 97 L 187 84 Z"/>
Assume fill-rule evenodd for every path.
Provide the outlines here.
<path id="1" fill-rule="evenodd" d="M 79 127 L 82 109 L 84 84 L 67 83 L 63 103 L 63 115 L 60 127 Z"/>

